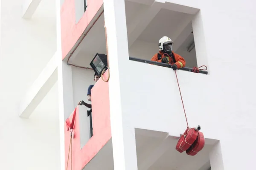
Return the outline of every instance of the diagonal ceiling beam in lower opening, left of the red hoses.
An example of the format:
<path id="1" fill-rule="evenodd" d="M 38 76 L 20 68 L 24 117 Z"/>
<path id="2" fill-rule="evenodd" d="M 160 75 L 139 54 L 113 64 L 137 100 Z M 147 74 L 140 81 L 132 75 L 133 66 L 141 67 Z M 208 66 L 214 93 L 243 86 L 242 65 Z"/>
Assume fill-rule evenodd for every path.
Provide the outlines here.
<path id="1" fill-rule="evenodd" d="M 163 141 L 152 150 L 150 155 L 145 155 L 142 163 L 138 164 L 139 170 L 148 170 L 170 147 L 172 147 L 171 136 L 166 136 Z"/>

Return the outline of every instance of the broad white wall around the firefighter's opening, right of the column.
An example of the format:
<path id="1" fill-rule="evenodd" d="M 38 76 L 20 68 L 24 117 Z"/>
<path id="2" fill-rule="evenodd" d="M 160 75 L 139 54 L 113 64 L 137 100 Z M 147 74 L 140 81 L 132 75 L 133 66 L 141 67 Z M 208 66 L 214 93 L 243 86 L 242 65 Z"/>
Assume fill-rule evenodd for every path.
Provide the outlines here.
<path id="1" fill-rule="evenodd" d="M 256 140 L 256 2 L 168 1 L 201 9 L 192 25 L 198 65 L 209 66 L 210 74 L 177 71 L 189 125 L 201 125 L 206 138 L 220 140 L 210 158 L 221 157 L 224 166 L 211 159 L 212 170 L 251 169 L 256 149 L 247 147 Z M 174 71 L 129 63 L 122 99 L 131 105 L 134 126 L 173 135 L 183 132 L 186 122 Z"/>

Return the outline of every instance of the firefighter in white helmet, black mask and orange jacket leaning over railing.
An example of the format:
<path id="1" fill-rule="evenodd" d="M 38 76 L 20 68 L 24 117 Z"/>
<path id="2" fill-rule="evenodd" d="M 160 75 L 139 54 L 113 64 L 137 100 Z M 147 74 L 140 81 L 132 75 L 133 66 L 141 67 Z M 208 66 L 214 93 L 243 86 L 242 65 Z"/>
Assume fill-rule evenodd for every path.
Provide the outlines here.
<path id="1" fill-rule="evenodd" d="M 169 63 L 173 70 L 185 67 L 185 59 L 172 51 L 172 40 L 169 37 L 162 37 L 159 40 L 158 48 L 159 53 L 155 54 L 151 61 Z"/>

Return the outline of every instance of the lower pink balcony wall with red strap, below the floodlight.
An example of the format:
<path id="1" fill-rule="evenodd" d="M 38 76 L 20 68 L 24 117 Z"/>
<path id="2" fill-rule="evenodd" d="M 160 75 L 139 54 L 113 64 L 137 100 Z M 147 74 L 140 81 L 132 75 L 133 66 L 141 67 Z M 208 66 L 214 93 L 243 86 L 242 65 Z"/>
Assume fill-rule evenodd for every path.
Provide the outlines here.
<path id="1" fill-rule="evenodd" d="M 105 73 L 103 76 L 106 76 Z M 106 79 L 106 78 L 105 78 Z M 93 137 L 80 149 L 79 109 L 76 110 L 74 138 L 72 141 L 72 169 L 81 170 L 111 139 L 108 82 L 99 81 L 92 89 Z M 84 113 L 87 114 L 87 113 Z M 72 122 L 73 113 L 70 115 Z M 67 165 L 70 132 L 65 124 L 65 164 Z M 70 162 L 68 166 L 70 170 Z"/>

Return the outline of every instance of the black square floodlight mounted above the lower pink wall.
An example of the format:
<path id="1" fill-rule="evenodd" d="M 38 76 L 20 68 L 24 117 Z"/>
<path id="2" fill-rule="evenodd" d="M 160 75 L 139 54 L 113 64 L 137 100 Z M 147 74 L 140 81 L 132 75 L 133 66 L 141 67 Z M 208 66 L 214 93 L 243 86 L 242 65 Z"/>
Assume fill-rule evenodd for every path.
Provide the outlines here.
<path id="1" fill-rule="evenodd" d="M 90 66 L 93 68 L 93 71 L 97 74 L 97 76 L 101 76 L 102 71 L 106 71 L 108 68 L 107 55 L 97 53 L 90 62 Z"/>

